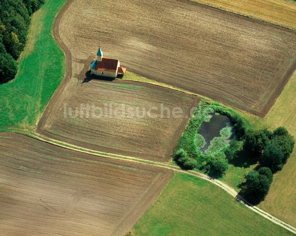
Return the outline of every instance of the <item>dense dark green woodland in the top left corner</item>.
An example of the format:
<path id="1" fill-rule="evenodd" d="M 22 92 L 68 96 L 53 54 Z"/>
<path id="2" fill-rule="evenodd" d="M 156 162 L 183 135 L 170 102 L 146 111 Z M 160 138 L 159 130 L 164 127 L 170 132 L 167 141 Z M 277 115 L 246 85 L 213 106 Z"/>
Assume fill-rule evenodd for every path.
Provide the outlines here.
<path id="1" fill-rule="evenodd" d="M 0 1 L 0 84 L 13 79 L 17 62 L 27 42 L 30 16 L 44 0 Z"/>

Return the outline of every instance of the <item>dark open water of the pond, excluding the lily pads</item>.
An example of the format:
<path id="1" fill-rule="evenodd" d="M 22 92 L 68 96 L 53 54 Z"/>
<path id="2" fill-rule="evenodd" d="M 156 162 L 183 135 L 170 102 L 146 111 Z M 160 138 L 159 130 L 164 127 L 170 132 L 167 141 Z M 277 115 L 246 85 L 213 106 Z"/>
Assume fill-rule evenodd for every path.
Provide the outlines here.
<path id="1" fill-rule="evenodd" d="M 205 147 L 199 149 L 205 154 L 205 150 L 210 146 L 210 141 L 215 137 L 220 136 L 220 130 L 225 127 L 231 127 L 231 136 L 229 140 L 234 139 L 235 128 L 231 120 L 226 115 L 216 115 L 211 114 L 212 118 L 209 122 L 203 122 L 197 131 L 197 134 L 200 134 L 204 137 L 206 145 Z"/>

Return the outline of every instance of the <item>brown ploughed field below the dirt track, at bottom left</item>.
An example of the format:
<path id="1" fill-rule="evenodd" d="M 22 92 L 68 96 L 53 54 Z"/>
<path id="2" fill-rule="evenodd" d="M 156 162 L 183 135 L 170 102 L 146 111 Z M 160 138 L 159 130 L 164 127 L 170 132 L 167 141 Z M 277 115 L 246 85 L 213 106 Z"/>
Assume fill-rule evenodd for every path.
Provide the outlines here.
<path id="1" fill-rule="evenodd" d="M 0 135 L 0 234 L 124 235 L 172 172 Z"/>

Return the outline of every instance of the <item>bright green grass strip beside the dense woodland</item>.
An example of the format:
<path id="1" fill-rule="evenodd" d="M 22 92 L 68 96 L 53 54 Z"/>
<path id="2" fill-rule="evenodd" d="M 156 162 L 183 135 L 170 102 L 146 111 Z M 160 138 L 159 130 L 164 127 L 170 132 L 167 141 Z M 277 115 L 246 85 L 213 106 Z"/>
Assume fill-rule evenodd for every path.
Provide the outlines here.
<path id="1" fill-rule="evenodd" d="M 52 26 L 65 1 L 47 0 L 33 15 L 17 76 L 0 85 L 0 131 L 34 126 L 62 81 L 65 57 Z"/>

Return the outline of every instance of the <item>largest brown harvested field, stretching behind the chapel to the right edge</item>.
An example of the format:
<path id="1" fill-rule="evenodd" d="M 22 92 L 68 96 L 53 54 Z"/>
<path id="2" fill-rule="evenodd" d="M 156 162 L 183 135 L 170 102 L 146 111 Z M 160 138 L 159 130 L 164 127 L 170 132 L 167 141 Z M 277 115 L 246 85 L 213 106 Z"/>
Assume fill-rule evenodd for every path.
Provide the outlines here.
<path id="1" fill-rule="evenodd" d="M 132 72 L 260 116 L 296 68 L 296 32 L 191 1 L 69 0 L 57 21 L 74 71 L 100 44 Z"/>

